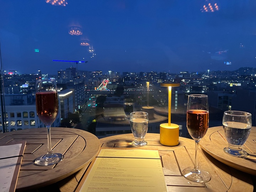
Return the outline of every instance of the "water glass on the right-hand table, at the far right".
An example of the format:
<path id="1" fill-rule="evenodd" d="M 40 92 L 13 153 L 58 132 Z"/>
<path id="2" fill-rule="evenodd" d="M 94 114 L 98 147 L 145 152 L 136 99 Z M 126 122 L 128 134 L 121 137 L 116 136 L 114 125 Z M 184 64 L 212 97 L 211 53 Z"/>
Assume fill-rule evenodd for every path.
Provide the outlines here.
<path id="1" fill-rule="evenodd" d="M 251 132 L 251 113 L 225 111 L 222 124 L 228 142 L 228 147 L 223 149 L 224 152 L 236 157 L 247 156 L 247 152 L 242 149 L 242 146 Z"/>

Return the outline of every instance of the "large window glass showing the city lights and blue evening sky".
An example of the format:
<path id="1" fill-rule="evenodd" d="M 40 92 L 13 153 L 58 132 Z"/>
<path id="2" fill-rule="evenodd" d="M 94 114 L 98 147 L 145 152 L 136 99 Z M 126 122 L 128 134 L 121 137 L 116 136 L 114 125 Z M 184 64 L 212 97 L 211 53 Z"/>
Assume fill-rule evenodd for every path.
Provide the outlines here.
<path id="1" fill-rule="evenodd" d="M 148 130 L 159 133 L 169 104 L 168 90 L 160 84 L 168 82 L 180 83 L 172 88 L 171 105 L 172 121 L 181 124 L 183 136 L 189 135 L 189 94 L 209 96 L 209 127 L 222 125 L 223 110 L 255 116 L 256 0 L 58 2 L 9 0 L 0 5 L 9 126 L 14 124 L 10 120 L 27 128 L 44 126 L 36 114 L 37 78 L 58 81 L 54 127 L 74 126 L 102 137 L 128 132 L 126 98 L 134 100 L 132 111 L 154 107 Z M 242 99 L 247 102 L 239 104 Z"/>

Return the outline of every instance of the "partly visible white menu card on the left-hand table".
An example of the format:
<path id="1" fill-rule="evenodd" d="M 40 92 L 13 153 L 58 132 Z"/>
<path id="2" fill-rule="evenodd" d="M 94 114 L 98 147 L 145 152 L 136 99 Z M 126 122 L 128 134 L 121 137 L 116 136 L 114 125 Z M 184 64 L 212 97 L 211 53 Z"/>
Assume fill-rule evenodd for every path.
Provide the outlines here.
<path id="1" fill-rule="evenodd" d="M 15 191 L 26 141 L 0 145 L 0 192 Z"/>

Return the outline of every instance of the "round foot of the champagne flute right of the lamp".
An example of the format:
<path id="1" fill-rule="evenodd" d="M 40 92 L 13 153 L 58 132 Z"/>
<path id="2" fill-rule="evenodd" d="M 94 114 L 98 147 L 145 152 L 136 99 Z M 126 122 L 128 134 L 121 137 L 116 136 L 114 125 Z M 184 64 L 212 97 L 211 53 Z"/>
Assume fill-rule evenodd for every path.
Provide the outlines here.
<path id="1" fill-rule="evenodd" d="M 202 182 L 207 182 L 210 181 L 210 174 L 207 171 L 204 170 L 199 170 L 198 171 L 193 171 L 194 167 L 188 167 L 187 169 L 184 169 L 182 171 L 182 175 L 193 182 L 198 182 L 198 183 L 202 183 Z"/>

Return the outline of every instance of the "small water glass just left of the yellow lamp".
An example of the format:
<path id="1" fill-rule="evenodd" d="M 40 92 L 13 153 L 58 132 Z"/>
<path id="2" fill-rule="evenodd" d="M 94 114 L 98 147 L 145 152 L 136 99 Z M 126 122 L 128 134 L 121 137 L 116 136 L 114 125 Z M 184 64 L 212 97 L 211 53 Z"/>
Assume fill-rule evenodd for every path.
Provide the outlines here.
<path id="1" fill-rule="evenodd" d="M 135 111 L 130 113 L 130 126 L 135 140 L 132 142 L 133 146 L 144 146 L 148 144 L 145 141 L 145 135 L 148 131 L 148 113 L 142 111 Z"/>

